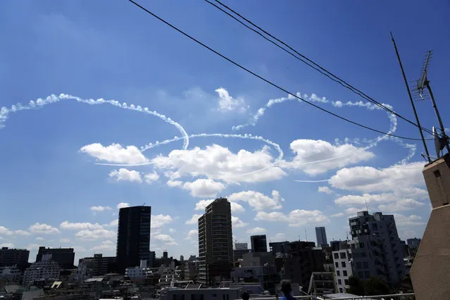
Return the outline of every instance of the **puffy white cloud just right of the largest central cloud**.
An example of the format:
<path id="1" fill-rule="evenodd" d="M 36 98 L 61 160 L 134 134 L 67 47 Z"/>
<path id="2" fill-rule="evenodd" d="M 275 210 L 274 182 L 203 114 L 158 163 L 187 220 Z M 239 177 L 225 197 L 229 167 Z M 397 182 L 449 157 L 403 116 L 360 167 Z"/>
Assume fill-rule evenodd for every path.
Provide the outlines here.
<path id="1" fill-rule="evenodd" d="M 326 173 L 375 157 L 372 152 L 352 144 L 332 145 L 320 139 L 296 139 L 291 143 L 291 149 L 296 156 L 287 166 L 308 175 Z"/>

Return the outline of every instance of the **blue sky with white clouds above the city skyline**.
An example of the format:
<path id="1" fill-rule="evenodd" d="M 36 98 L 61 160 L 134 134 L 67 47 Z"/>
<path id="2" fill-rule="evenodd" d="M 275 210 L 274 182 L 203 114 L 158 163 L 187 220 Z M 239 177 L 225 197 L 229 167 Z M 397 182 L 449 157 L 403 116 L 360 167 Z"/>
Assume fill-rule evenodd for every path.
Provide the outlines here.
<path id="1" fill-rule="evenodd" d="M 449 124 L 449 1 L 226 4 L 411 120 L 389 31 L 408 80 L 418 77 L 423 53 L 434 49 L 429 75 Z M 341 105 L 363 99 L 204 1 L 145 6 L 323 108 L 378 130 L 419 136 L 385 111 Z M 401 238 L 423 234 L 430 205 L 421 143 L 388 139 L 287 99 L 127 1 L 8 2 L 0 32 L 0 244 L 30 249 L 30 261 L 38 245 L 75 246 L 77 258 L 115 254 L 118 206 L 144 203 L 152 206 L 152 250 L 197 254 L 195 215 L 215 196 L 232 201 L 239 242 L 253 233 L 271 241 L 305 239 L 305 230 L 315 240 L 318 225 L 328 239 L 344 239 L 347 219 L 365 201 L 370 211 L 396 214 Z M 51 94 L 57 96 L 48 100 Z M 423 125 L 436 125 L 430 102 L 416 105 Z M 249 125 L 232 130 L 242 124 Z M 247 134 L 265 142 L 194 136 L 187 148 L 178 139 L 141 151 L 182 137 L 180 128 L 187 135 Z M 136 163 L 145 165 L 130 165 Z"/>

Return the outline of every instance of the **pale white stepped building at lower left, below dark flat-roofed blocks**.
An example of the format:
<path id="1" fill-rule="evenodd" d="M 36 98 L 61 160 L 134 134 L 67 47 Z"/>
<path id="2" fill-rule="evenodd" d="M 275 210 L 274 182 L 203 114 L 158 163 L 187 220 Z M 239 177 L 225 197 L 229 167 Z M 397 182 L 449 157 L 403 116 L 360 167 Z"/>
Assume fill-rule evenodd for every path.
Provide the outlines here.
<path id="1" fill-rule="evenodd" d="M 61 267 L 56 261 L 51 261 L 51 254 L 44 254 L 42 261 L 32 263 L 23 274 L 23 285 L 30 285 L 35 280 L 58 280 Z"/>

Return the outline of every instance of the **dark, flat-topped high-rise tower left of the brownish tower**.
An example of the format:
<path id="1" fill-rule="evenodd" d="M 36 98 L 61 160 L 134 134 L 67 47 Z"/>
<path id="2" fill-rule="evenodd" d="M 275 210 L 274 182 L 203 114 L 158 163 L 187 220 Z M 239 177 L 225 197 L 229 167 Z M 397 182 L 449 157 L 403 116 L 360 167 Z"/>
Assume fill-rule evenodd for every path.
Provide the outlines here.
<path id="1" fill-rule="evenodd" d="M 142 260 L 149 261 L 150 215 L 150 206 L 120 208 L 116 251 L 119 273 L 137 267 Z"/>

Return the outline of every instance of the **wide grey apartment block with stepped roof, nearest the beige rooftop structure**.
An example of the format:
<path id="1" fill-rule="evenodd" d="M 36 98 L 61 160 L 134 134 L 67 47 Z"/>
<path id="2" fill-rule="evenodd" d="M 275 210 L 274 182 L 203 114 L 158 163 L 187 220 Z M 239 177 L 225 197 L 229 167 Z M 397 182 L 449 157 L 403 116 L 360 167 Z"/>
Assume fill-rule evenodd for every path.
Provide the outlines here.
<path id="1" fill-rule="evenodd" d="M 398 285 L 406 268 L 394 215 L 361 211 L 349 219 L 349 225 L 354 275 L 361 280 L 377 276 L 390 285 Z"/>

